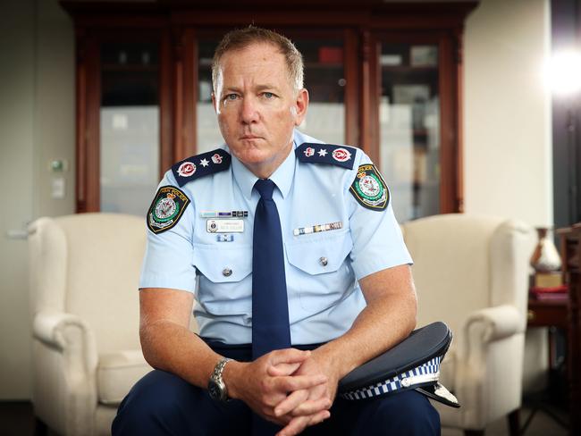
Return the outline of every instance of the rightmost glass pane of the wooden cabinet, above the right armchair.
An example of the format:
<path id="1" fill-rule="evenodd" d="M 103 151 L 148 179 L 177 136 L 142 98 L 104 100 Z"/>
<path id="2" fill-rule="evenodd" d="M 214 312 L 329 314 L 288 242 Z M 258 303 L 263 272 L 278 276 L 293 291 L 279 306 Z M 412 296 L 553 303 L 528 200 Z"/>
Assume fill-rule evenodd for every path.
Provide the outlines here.
<path id="1" fill-rule="evenodd" d="M 380 43 L 379 151 L 400 222 L 440 213 L 438 46 Z"/>

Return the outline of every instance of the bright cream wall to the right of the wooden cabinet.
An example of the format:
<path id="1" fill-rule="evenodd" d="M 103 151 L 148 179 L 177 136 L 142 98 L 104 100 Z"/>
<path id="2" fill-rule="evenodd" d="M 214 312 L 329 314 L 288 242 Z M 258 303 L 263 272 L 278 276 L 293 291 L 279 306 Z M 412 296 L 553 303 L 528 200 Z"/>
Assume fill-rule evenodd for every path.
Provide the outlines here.
<path id="1" fill-rule="evenodd" d="M 465 211 L 552 224 L 548 0 L 483 0 L 465 30 Z"/>

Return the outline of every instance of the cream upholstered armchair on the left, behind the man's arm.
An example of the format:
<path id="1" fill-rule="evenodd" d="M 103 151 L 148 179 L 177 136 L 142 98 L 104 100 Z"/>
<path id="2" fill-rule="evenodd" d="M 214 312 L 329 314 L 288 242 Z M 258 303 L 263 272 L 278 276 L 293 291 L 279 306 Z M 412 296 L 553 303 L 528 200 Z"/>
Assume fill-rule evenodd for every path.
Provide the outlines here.
<path id="1" fill-rule="evenodd" d="M 37 423 L 110 434 L 122 398 L 151 370 L 139 346 L 143 218 L 75 214 L 29 226 Z"/>

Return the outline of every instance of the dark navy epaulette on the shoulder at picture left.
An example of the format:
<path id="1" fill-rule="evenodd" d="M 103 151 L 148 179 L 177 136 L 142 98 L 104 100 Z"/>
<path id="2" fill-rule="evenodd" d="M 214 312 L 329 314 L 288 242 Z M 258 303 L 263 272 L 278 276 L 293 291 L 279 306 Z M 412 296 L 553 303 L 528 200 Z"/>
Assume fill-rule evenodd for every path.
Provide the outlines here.
<path id="1" fill-rule="evenodd" d="M 193 155 L 173 164 L 172 172 L 180 188 L 191 180 L 230 168 L 232 156 L 222 148 Z"/>

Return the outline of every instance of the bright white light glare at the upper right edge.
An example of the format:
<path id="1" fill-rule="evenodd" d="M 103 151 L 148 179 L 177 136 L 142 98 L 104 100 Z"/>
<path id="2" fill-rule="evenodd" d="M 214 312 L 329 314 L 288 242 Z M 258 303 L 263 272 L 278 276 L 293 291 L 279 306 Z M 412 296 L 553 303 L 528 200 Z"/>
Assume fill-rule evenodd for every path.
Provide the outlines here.
<path id="1" fill-rule="evenodd" d="M 568 50 L 553 55 L 545 64 L 544 79 L 556 95 L 577 93 L 581 89 L 581 53 Z"/>

